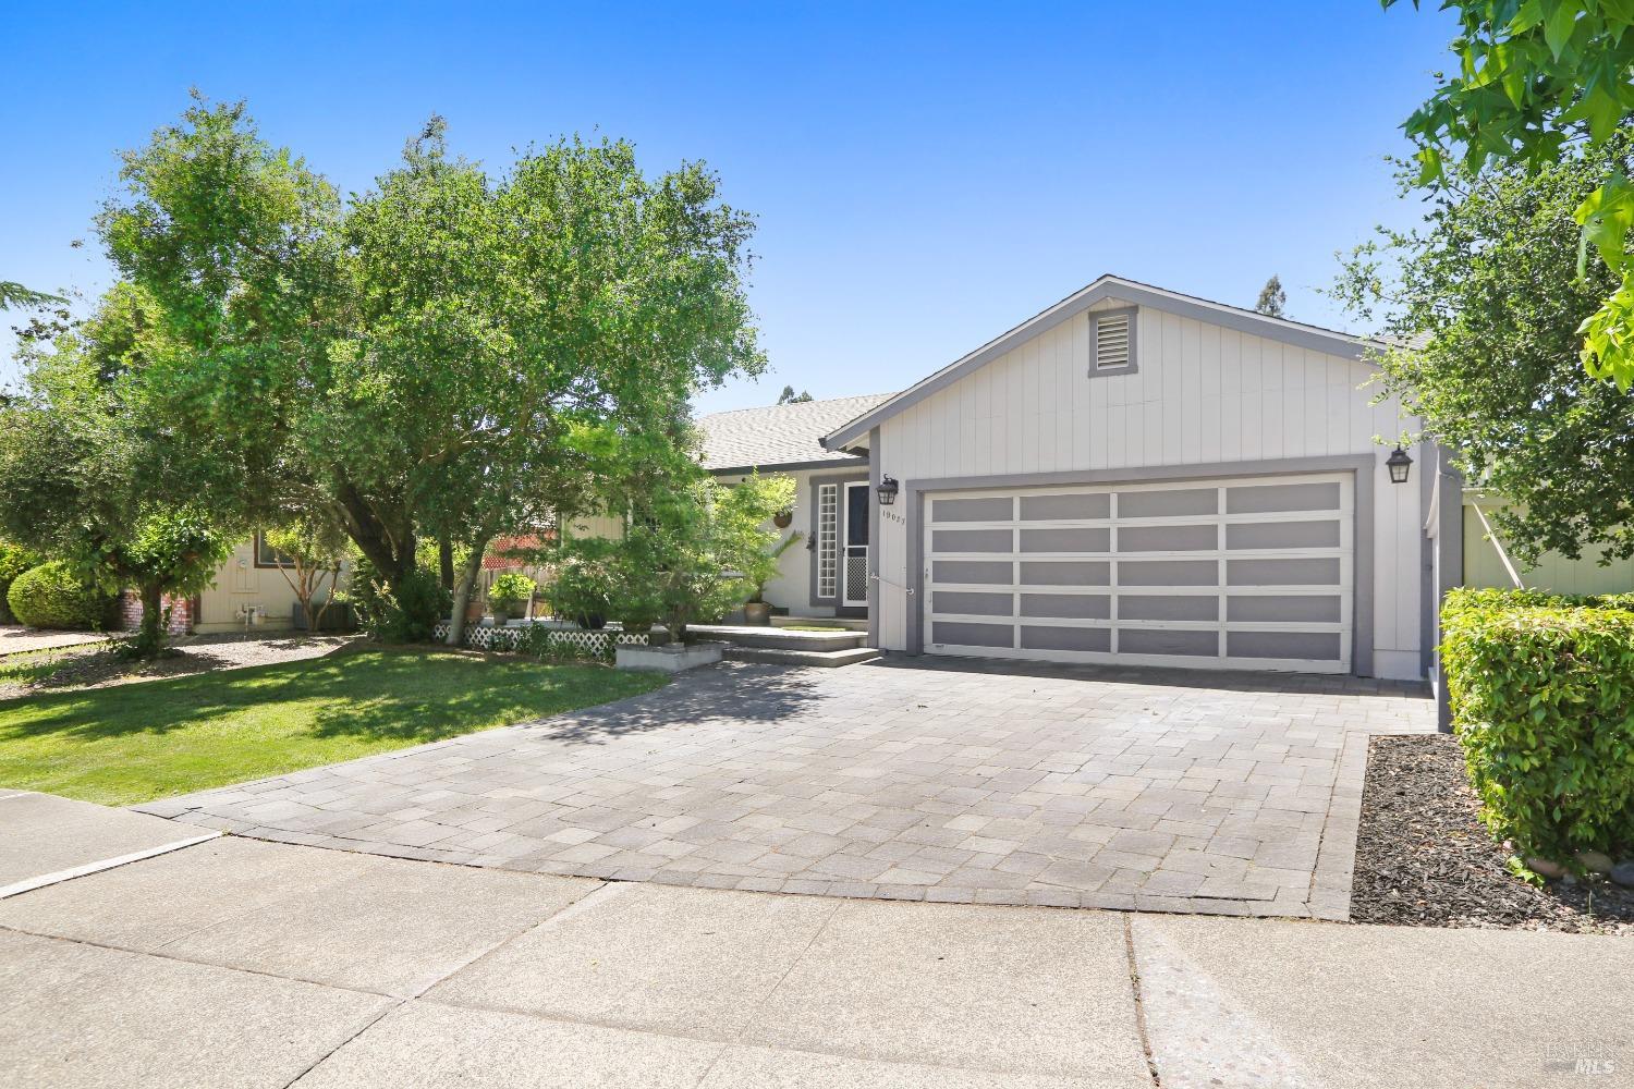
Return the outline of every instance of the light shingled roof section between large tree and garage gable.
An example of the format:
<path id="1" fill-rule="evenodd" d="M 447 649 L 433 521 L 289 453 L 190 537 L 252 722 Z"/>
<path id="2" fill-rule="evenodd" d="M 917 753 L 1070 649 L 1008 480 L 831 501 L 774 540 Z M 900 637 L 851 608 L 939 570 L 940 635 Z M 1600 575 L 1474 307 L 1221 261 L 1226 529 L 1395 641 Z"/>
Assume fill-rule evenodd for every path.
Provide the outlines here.
<path id="1" fill-rule="evenodd" d="M 869 393 L 708 415 L 698 421 L 704 438 L 704 469 L 747 473 L 752 469 L 855 464 L 855 454 L 824 449 L 822 436 L 887 400 L 891 393 Z"/>

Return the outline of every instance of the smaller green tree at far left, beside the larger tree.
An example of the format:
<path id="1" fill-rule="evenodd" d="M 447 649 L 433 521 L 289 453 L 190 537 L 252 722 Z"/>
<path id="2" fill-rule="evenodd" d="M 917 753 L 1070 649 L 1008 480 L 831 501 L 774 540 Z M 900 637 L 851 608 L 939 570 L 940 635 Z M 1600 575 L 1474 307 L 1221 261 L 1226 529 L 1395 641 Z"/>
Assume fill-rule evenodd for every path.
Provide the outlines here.
<path id="1" fill-rule="evenodd" d="M 176 351 L 149 300 L 121 286 L 96 317 L 51 346 L 26 346 L 23 392 L 0 410 L 0 531 L 59 557 L 113 593 L 134 588 L 132 653 L 167 643 L 167 596 L 208 586 L 230 552 L 234 467 L 191 442 L 132 380 L 142 359 Z"/>

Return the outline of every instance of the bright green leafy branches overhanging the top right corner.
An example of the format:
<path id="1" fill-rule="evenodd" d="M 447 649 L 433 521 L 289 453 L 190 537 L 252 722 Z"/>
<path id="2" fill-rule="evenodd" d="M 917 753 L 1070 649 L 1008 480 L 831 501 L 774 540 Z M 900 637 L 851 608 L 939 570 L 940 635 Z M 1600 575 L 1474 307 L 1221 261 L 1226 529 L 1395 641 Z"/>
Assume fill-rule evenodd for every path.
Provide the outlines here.
<path id="1" fill-rule="evenodd" d="M 1399 0 L 1382 3 L 1391 8 Z M 1627 127 L 1634 5 L 1446 0 L 1441 7 L 1459 15 L 1458 70 L 1438 77 L 1430 100 L 1404 126 L 1418 144 L 1418 184 L 1456 189 L 1497 163 L 1542 170 Z M 1585 247 L 1577 278 L 1588 276 L 1588 248 L 1614 273 L 1598 305 L 1578 315 L 1582 361 L 1592 376 L 1627 392 L 1634 385 L 1634 183 L 1609 170 L 1583 193 L 1574 219 Z"/>

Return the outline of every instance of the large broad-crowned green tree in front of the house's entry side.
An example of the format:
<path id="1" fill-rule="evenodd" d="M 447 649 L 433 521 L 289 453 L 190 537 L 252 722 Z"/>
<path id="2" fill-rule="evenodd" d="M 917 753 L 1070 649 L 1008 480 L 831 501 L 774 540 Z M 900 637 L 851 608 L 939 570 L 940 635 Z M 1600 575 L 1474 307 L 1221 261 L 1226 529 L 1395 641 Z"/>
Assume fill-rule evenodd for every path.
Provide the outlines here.
<path id="1" fill-rule="evenodd" d="M 190 349 L 152 387 L 250 467 L 247 508 L 322 508 L 387 589 L 422 536 L 466 555 L 449 642 L 487 544 L 583 506 L 608 436 L 763 367 L 752 220 L 701 163 L 649 178 L 575 137 L 490 176 L 433 118 L 342 201 L 242 104 L 196 101 L 123 178 L 109 256 Z"/>

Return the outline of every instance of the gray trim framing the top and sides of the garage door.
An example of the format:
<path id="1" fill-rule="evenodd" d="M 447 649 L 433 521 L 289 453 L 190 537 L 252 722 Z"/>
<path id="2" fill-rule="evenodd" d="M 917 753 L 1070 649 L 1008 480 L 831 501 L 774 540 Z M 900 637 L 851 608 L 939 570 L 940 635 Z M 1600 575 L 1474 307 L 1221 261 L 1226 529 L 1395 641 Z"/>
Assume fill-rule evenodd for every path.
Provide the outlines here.
<path id="1" fill-rule="evenodd" d="M 1142 469 L 1090 469 L 1046 473 L 1003 473 L 995 477 L 944 477 L 941 480 L 905 480 L 902 495 L 909 511 L 909 607 L 907 653 L 925 653 L 925 496 L 935 491 L 974 491 L 979 488 L 1047 488 L 1056 485 L 1145 483 L 1157 480 L 1224 480 L 1232 477 L 1289 477 L 1297 473 L 1355 473 L 1355 586 L 1351 588 L 1350 669 L 1356 676 L 1373 676 L 1373 518 L 1377 460 L 1373 454 L 1340 454 L 1333 457 L 1283 457 L 1263 462 L 1216 462 L 1212 465 L 1149 465 Z"/>

